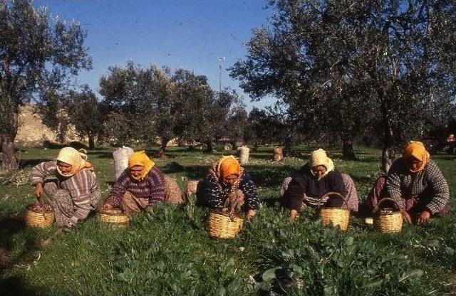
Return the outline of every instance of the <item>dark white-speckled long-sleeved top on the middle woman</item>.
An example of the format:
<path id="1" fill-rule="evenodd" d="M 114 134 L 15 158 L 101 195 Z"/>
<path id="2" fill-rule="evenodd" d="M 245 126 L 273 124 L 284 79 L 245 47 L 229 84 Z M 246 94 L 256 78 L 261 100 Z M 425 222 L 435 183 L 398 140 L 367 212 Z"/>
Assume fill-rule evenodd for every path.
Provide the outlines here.
<path id="1" fill-rule="evenodd" d="M 257 187 L 247 171 L 242 171 L 240 174 L 238 189 L 242 191 L 247 200 L 247 208 L 249 210 L 257 210 L 259 208 Z M 232 191 L 232 186 L 220 184 L 214 174 L 209 173 L 207 174 L 206 179 L 204 179 L 204 196 L 209 208 L 215 208 L 217 210 L 222 209 Z"/>

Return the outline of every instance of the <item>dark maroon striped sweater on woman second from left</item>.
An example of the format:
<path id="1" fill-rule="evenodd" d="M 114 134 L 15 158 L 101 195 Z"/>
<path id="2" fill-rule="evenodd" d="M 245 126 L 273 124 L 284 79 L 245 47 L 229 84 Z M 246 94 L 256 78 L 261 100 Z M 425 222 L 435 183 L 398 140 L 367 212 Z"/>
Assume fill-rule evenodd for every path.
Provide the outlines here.
<path id="1" fill-rule="evenodd" d="M 145 207 L 151 207 L 165 200 L 165 189 L 165 176 L 157 166 L 154 166 L 142 181 L 131 179 L 128 169 L 125 169 L 111 189 L 106 203 L 117 208 L 125 191 L 128 191 L 136 198 L 143 199 Z"/>

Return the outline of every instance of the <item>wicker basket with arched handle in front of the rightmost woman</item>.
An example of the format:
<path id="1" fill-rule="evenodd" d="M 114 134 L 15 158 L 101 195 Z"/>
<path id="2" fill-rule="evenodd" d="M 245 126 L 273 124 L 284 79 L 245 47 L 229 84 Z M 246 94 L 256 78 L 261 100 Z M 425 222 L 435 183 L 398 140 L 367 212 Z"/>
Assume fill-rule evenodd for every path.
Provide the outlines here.
<path id="1" fill-rule="evenodd" d="M 383 201 L 393 201 L 397 208 L 391 209 L 391 213 L 381 213 L 380 204 L 383 203 Z M 400 213 L 398 203 L 396 203 L 394 199 L 385 198 L 378 201 L 378 204 L 374 209 L 374 214 L 373 223 L 380 233 L 398 233 L 402 231 L 402 213 Z"/>

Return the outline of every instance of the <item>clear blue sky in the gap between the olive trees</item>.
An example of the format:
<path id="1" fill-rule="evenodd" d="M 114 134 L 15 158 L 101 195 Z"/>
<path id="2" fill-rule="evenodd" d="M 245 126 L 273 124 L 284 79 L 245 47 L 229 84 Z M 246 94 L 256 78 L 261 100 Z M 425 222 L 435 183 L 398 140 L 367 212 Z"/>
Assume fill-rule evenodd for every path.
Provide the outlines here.
<path id="1" fill-rule="evenodd" d="M 271 16 L 268 0 L 39 0 L 51 14 L 66 21 L 76 20 L 87 31 L 86 46 L 93 58 L 93 70 L 82 71 L 79 83 L 98 90 L 101 75 L 110 65 L 133 60 L 140 65 L 154 63 L 183 67 L 206 75 L 219 88 L 219 56 L 225 57 L 222 86 L 242 93 L 239 83 L 229 78 L 227 68 L 244 58 L 244 43 Z M 251 103 L 248 109 L 264 107 L 274 100 Z"/>

